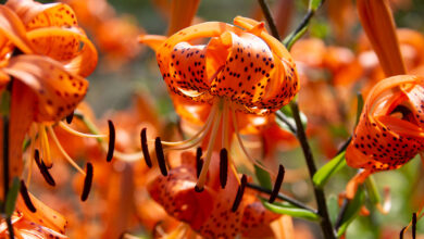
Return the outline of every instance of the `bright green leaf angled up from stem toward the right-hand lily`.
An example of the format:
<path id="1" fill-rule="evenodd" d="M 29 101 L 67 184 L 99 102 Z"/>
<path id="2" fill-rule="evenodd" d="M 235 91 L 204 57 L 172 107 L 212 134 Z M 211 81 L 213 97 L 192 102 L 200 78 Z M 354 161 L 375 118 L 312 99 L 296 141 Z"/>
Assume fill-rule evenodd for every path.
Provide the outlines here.
<path id="1" fill-rule="evenodd" d="M 335 173 L 346 166 L 345 153 L 344 151 L 333 158 L 313 175 L 312 181 L 317 188 L 323 188 Z"/>

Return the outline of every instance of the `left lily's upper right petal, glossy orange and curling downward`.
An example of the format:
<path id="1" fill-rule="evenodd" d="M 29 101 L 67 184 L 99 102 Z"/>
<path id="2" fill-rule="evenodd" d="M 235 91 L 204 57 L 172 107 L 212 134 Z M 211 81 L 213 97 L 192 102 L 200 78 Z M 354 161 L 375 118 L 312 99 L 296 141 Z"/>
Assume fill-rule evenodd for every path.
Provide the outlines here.
<path id="1" fill-rule="evenodd" d="M 71 73 L 86 77 L 96 68 L 97 50 L 80 28 L 42 27 L 27 37 L 37 53 L 61 61 Z"/>

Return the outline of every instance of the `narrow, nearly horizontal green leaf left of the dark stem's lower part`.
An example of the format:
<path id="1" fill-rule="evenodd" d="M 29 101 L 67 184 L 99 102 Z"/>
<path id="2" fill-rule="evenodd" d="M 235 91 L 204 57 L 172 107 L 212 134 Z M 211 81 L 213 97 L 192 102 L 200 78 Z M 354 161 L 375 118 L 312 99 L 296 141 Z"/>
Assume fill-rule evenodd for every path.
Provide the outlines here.
<path id="1" fill-rule="evenodd" d="M 294 217 L 304 218 L 309 221 L 319 221 L 320 216 L 316 213 L 313 213 L 311 211 L 299 209 L 297 206 L 294 206 L 288 203 L 269 203 L 266 200 L 261 199 L 263 205 L 265 209 L 270 210 L 271 212 L 277 213 L 277 214 L 285 214 Z"/>

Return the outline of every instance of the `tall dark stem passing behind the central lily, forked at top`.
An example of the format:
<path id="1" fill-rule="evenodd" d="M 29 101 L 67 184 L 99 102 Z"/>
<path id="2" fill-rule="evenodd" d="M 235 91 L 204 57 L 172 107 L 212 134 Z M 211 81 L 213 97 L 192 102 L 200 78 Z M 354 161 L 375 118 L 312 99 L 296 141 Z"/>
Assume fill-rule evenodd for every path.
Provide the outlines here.
<path id="1" fill-rule="evenodd" d="M 276 30 L 275 25 L 273 24 L 274 21 L 272 18 L 271 13 L 270 13 L 270 9 L 267 8 L 267 5 L 264 2 L 264 0 L 259 0 L 259 2 L 260 2 L 260 5 L 262 8 L 262 11 L 263 11 L 263 13 L 265 15 L 266 21 L 269 21 L 270 27 L 274 28 L 274 29 L 271 30 L 273 33 L 273 36 L 275 38 L 277 38 L 278 40 L 280 40 L 278 34 L 276 34 L 277 30 Z M 310 7 L 311 7 L 311 4 L 310 4 Z M 310 8 L 308 10 L 308 14 L 303 18 L 302 23 L 289 36 L 288 40 L 285 41 L 288 50 L 292 46 L 294 41 L 296 39 L 298 39 L 301 35 L 304 34 L 304 32 L 305 32 L 305 29 L 307 29 L 307 27 L 309 25 L 309 22 L 312 18 L 312 16 L 314 15 L 316 9 L 317 8 L 315 8 L 315 9 Z M 313 154 L 312 154 L 312 151 L 311 151 L 311 147 L 309 146 L 308 138 L 307 138 L 307 135 L 304 133 L 304 128 L 303 128 L 302 122 L 300 120 L 299 106 L 298 106 L 296 101 L 291 101 L 290 102 L 290 109 L 291 109 L 292 116 L 294 116 L 295 122 L 296 122 L 296 128 L 297 128 L 296 135 L 297 135 L 297 138 L 298 138 L 298 140 L 299 140 L 299 142 L 301 144 L 301 148 L 302 148 L 302 151 L 303 151 L 303 155 L 304 155 L 304 159 L 307 161 L 309 175 L 310 175 L 310 178 L 312 179 L 313 175 L 316 173 L 316 166 L 315 166 L 315 162 L 314 162 Z M 313 186 L 313 191 L 314 191 L 315 199 L 316 199 L 316 204 L 317 204 L 317 214 L 322 218 L 321 222 L 320 222 L 320 226 L 321 226 L 321 229 L 322 229 L 322 231 L 324 234 L 324 238 L 335 239 L 336 235 L 335 235 L 335 230 L 333 229 L 332 222 L 329 219 L 329 214 L 328 214 L 328 209 L 327 209 L 327 204 L 326 204 L 326 201 L 325 201 L 324 190 Z"/>

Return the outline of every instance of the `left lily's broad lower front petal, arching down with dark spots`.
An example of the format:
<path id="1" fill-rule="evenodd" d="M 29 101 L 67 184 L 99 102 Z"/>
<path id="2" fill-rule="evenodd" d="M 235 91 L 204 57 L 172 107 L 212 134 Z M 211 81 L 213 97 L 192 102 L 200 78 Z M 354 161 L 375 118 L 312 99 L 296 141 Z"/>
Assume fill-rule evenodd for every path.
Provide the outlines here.
<path id="1" fill-rule="evenodd" d="M 57 122 L 71 114 L 87 92 L 88 81 L 59 62 L 40 55 L 18 55 L 3 70 L 37 96 L 35 121 Z"/>

